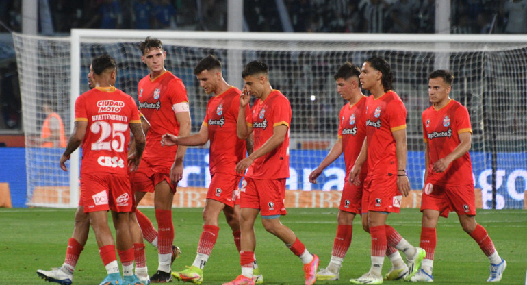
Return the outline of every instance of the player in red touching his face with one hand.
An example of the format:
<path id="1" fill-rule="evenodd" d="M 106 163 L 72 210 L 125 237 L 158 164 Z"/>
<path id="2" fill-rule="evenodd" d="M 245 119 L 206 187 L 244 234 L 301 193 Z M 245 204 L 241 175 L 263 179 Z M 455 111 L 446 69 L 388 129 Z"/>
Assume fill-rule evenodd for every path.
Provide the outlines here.
<path id="1" fill-rule="evenodd" d="M 280 216 L 287 214 L 283 199 L 285 179 L 289 177 L 291 105 L 279 90 L 272 89 L 268 72 L 267 64 L 259 61 L 249 62 L 242 72 L 245 86 L 240 97 L 237 135 L 246 139 L 253 133 L 255 151 L 236 165 L 236 172 L 240 174 L 248 168 L 244 178 L 247 186 L 240 194 L 242 274 L 224 284 L 254 284 L 254 224 L 258 213 L 261 213 L 264 228 L 302 260 L 305 284 L 314 284 L 318 256 L 309 253 L 294 232 L 280 222 Z M 251 108 L 252 114 L 246 114 L 250 95 L 257 99 Z"/>

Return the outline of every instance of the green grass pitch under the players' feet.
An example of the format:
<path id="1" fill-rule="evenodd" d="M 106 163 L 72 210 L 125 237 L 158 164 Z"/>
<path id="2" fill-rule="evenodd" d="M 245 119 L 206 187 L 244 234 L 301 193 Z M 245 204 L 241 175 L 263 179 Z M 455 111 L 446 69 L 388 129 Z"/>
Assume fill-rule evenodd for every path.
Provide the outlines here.
<path id="1" fill-rule="evenodd" d="M 143 210 L 155 223 L 153 209 Z M 174 262 L 173 271 L 184 269 L 185 265 L 190 266 L 194 261 L 203 226 L 201 210 L 173 209 L 175 244 L 183 251 Z M 326 267 L 337 228 L 337 209 L 289 209 L 288 212 L 281 221 L 294 230 L 311 253 L 320 256 L 320 266 Z M 36 270 L 48 270 L 62 264 L 66 243 L 73 230 L 74 214 L 73 209 L 0 209 L 0 284 L 49 284 L 36 275 Z M 370 236 L 363 232 L 357 218 L 352 243 L 340 271 L 340 280 L 316 284 L 349 284 L 350 278 L 359 277 L 370 268 Z M 402 209 L 400 214 L 390 214 L 387 223 L 410 243 L 418 245 L 420 221 L 421 214 L 417 209 Z M 498 252 L 508 263 L 500 284 L 524 284 L 527 269 L 527 212 L 478 210 L 476 221 L 487 229 Z M 278 238 L 267 233 L 259 219 L 255 231 L 256 256 L 264 274 L 264 283 L 303 284 L 300 260 Z M 149 273 L 155 273 L 157 253 L 148 244 L 146 258 Z M 386 259 L 384 265 L 383 273 L 389 269 L 389 260 Z M 463 232 L 456 214 L 451 213 L 449 219 L 441 218 L 437 227 L 434 284 L 485 284 L 489 275 L 488 267 L 487 258 L 474 240 Z M 222 284 L 240 274 L 240 258 L 222 214 L 218 241 L 204 274 L 203 284 Z M 104 277 L 105 269 L 94 234 L 90 232 L 88 243 L 77 263 L 73 284 L 99 284 Z M 175 283 L 177 281 L 172 282 Z"/>

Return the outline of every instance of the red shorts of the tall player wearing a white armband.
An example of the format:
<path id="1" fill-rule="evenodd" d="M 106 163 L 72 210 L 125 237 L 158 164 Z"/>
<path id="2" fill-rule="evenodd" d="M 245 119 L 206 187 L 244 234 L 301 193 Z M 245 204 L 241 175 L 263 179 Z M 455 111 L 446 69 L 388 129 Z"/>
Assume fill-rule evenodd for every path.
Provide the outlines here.
<path id="1" fill-rule="evenodd" d="M 170 182 L 170 168 L 154 166 L 146 160 L 141 160 L 138 170 L 130 174 L 133 193 L 154 193 L 157 184 L 166 181 L 172 193 L 176 193 L 176 185 Z"/>

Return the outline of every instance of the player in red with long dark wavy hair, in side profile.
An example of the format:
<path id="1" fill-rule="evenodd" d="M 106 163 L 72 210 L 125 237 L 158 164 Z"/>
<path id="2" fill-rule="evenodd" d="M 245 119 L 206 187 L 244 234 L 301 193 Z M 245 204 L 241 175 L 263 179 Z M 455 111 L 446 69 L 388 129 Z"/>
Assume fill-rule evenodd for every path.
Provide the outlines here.
<path id="1" fill-rule="evenodd" d="M 390 255 L 388 245 L 407 256 L 409 270 L 404 278 L 408 280 L 417 272 L 425 254 L 423 249 L 409 244 L 393 227 L 386 225 L 388 214 L 399 212 L 402 195 L 406 197 L 410 190 L 406 175 L 407 110 L 400 97 L 391 90 L 393 78 L 388 62 L 378 57 L 365 60 L 359 75 L 362 87 L 372 95 L 366 99 L 363 116 L 366 138 L 348 179 L 359 185 L 361 166 L 368 160 L 362 205 L 363 211 L 368 210 L 372 267 L 368 273 L 350 280 L 354 284 L 383 283 L 381 270 L 385 254 Z"/>

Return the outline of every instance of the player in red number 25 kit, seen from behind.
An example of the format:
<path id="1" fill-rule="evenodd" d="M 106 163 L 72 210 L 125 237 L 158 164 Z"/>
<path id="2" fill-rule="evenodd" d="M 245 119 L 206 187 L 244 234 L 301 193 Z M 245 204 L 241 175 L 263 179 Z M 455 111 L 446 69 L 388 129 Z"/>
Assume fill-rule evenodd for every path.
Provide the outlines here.
<path id="1" fill-rule="evenodd" d="M 143 284 L 133 274 L 133 247 L 129 231 L 129 212 L 133 207 L 127 165 L 135 169 L 144 149 L 144 134 L 136 102 L 116 89 L 116 64 L 109 55 L 92 61 L 97 86 L 75 101 L 75 127 L 60 166 L 67 171 L 66 160 L 81 143 L 81 202 L 90 216 L 99 253 L 107 270 L 101 284 Z M 130 131 L 137 155 L 127 158 Z M 123 264 L 121 278 L 116 260 L 115 243 L 108 227 L 107 211 L 111 210 L 116 228 L 116 245 Z"/>

